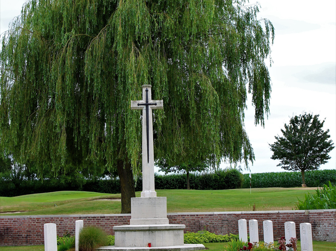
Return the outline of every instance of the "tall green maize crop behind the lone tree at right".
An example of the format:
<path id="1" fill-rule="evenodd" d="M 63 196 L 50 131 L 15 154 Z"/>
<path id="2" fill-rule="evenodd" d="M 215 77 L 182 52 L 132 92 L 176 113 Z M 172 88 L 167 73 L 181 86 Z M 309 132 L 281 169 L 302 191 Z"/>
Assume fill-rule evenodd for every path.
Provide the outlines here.
<path id="1" fill-rule="evenodd" d="M 263 172 L 251 174 L 252 188 L 301 187 L 301 172 Z M 336 184 L 336 169 L 305 171 L 307 187 L 322 187 L 323 184 Z M 250 188 L 249 174 L 244 174 L 243 188 Z"/>

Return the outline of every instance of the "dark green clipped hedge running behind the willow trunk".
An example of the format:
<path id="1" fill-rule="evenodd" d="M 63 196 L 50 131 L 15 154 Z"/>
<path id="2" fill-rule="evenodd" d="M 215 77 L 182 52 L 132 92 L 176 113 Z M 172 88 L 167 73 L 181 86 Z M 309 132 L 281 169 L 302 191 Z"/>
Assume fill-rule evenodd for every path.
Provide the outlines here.
<path id="1" fill-rule="evenodd" d="M 243 175 L 236 169 L 219 170 L 214 173 L 189 175 L 190 188 L 198 190 L 222 190 L 241 188 Z M 155 189 L 186 189 L 186 174 L 155 174 Z M 0 182 L 0 196 L 12 197 L 25 194 L 55 191 L 89 191 L 99 193 L 120 193 L 119 179 L 87 180 L 81 187 L 57 180 L 22 181 L 18 187 L 9 182 Z M 136 181 L 135 191 L 142 191 L 142 177 Z"/>

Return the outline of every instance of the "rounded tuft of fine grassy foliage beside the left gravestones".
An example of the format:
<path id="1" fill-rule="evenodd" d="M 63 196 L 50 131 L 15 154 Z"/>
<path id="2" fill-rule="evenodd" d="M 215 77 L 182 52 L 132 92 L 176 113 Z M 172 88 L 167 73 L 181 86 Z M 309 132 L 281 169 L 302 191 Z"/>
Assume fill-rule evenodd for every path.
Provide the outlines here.
<path id="1" fill-rule="evenodd" d="M 81 251 L 94 251 L 96 248 L 107 244 L 107 234 L 97 227 L 84 227 L 79 233 L 78 245 Z"/>

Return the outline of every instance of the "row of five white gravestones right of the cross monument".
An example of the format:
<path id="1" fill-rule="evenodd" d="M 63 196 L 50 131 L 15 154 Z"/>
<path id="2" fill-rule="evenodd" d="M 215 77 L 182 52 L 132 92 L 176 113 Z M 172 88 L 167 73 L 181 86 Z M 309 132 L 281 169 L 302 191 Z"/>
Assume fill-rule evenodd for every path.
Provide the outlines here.
<path id="1" fill-rule="evenodd" d="M 245 219 L 238 220 L 239 228 L 239 239 L 247 242 L 247 223 Z M 263 230 L 264 230 L 264 242 L 265 243 L 274 243 L 273 237 L 273 222 L 271 220 L 263 221 Z M 250 242 L 258 243 L 258 221 L 255 219 L 249 220 L 249 233 L 250 233 Z M 296 238 L 295 232 L 295 222 L 287 221 L 285 222 L 285 238 L 286 244 L 290 243 L 291 238 Z M 312 234 L 311 234 L 311 224 L 310 223 L 301 223 L 300 224 L 300 241 L 301 241 L 301 251 L 313 251 L 312 246 Z M 286 248 L 288 250 L 288 248 Z"/>

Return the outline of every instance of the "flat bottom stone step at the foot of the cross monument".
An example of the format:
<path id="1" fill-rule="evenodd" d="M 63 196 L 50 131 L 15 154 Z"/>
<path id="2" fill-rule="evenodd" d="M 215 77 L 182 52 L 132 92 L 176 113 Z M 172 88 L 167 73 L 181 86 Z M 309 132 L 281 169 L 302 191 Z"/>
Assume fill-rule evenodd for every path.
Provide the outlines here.
<path id="1" fill-rule="evenodd" d="M 97 251 L 191 251 L 204 250 L 203 244 L 184 244 L 183 246 L 162 246 L 162 247 L 116 247 L 106 246 L 97 248 Z"/>

